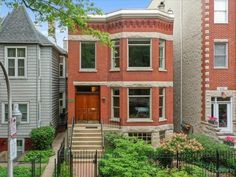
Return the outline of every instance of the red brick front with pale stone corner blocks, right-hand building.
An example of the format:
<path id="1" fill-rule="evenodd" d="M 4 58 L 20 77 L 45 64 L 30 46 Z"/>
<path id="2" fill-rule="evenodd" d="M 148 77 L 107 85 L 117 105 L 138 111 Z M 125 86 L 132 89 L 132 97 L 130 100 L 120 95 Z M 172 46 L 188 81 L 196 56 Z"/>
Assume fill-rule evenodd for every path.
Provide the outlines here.
<path id="1" fill-rule="evenodd" d="M 207 120 L 212 114 L 213 97 L 230 97 L 232 120 L 229 123 L 233 125 L 236 91 L 236 1 L 226 1 L 226 23 L 214 21 L 214 12 L 217 9 L 214 8 L 215 3 L 215 0 L 202 0 L 202 120 Z M 215 43 L 227 44 L 228 66 L 225 68 L 214 67 Z"/>

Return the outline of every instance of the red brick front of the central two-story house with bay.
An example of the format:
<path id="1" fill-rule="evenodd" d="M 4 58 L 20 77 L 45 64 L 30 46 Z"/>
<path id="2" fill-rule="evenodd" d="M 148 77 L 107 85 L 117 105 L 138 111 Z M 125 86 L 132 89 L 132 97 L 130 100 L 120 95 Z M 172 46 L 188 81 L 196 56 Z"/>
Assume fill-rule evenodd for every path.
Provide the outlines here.
<path id="1" fill-rule="evenodd" d="M 127 93 L 129 86 L 117 86 L 120 89 L 120 119 L 122 126 L 158 126 L 173 124 L 173 41 L 166 36 L 172 36 L 173 20 L 162 19 L 159 17 L 150 18 L 123 18 L 118 17 L 106 20 L 105 22 L 91 22 L 89 24 L 95 29 L 106 31 L 111 35 L 123 34 L 117 37 L 120 40 L 120 71 L 111 71 L 111 49 L 104 44 L 96 42 L 96 70 L 97 72 L 80 72 L 80 42 L 87 41 L 88 36 L 83 36 L 80 31 L 69 33 L 68 41 L 68 113 L 69 124 L 75 116 L 75 85 L 79 86 L 89 82 L 97 82 L 100 86 L 100 118 L 103 122 L 108 122 L 111 118 L 111 88 L 109 83 L 129 82 L 144 83 L 145 88 L 151 89 L 151 115 L 152 122 L 128 122 L 127 116 Z M 140 33 L 140 34 L 139 34 Z M 144 34 L 142 36 L 142 33 Z M 131 35 L 131 36 L 129 36 Z M 133 37 L 132 37 L 133 35 Z M 139 37 L 137 37 L 137 35 Z M 145 36 L 146 35 L 146 36 Z M 163 36 L 163 37 L 162 37 Z M 83 38 L 84 37 L 84 38 Z M 86 39 L 87 37 L 87 39 Z M 113 37 L 116 38 L 116 37 Z M 151 40 L 151 70 L 128 71 L 128 39 L 129 38 L 148 38 Z M 159 39 L 166 40 L 166 71 L 159 71 Z M 78 82 L 78 84 L 76 84 Z M 84 82 L 84 83 L 83 83 Z M 158 117 L 158 86 L 148 87 L 145 83 L 155 82 L 157 85 L 166 88 L 166 118 L 160 122 Z M 166 85 L 165 83 L 171 83 Z M 116 88 L 117 88 L 116 87 Z M 131 86 L 134 87 L 134 86 Z M 140 86 L 137 86 L 140 87 Z"/>

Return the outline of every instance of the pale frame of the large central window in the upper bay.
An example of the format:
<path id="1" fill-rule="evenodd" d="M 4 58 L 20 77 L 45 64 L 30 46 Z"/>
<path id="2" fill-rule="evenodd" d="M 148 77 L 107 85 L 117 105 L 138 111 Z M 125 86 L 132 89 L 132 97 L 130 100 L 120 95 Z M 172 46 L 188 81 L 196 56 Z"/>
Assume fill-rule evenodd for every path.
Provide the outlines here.
<path id="1" fill-rule="evenodd" d="M 134 40 L 134 41 L 150 41 L 150 66 L 149 67 L 129 67 L 129 40 Z M 153 71 L 152 69 L 152 39 L 141 39 L 141 38 L 129 38 L 127 39 L 127 71 Z"/>

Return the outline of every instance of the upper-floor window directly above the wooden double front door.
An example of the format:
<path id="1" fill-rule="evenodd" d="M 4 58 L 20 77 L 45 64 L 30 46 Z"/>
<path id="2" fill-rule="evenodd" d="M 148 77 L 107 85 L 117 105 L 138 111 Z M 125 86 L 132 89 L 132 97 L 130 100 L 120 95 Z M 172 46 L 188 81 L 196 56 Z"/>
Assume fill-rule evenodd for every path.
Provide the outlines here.
<path id="1" fill-rule="evenodd" d="M 81 42 L 80 70 L 96 70 L 96 44 L 95 42 Z"/>

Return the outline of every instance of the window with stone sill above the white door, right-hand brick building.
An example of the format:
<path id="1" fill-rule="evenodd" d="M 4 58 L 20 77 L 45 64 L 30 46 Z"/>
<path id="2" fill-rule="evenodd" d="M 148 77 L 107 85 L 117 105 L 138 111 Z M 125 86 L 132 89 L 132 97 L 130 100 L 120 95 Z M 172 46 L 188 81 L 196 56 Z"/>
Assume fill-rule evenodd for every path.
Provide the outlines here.
<path id="1" fill-rule="evenodd" d="M 228 44 L 225 42 L 216 42 L 214 51 L 214 68 L 228 67 Z"/>

